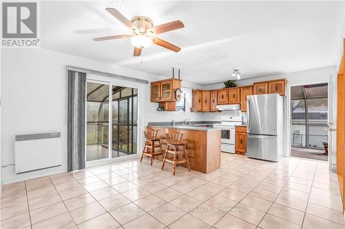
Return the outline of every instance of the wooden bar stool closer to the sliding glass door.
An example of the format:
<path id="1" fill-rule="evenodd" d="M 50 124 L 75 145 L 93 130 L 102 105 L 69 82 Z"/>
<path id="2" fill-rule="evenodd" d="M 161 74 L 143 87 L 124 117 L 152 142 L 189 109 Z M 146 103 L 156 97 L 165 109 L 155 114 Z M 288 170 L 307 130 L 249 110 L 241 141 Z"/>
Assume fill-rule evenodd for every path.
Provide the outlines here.
<path id="1" fill-rule="evenodd" d="M 152 166 L 152 162 L 155 159 L 155 156 L 163 155 L 163 153 L 161 153 L 162 150 L 160 150 L 159 152 L 155 151 L 155 148 L 161 149 L 161 138 L 157 138 L 157 133 L 158 133 L 158 130 L 153 129 L 151 127 L 146 127 L 146 130 L 144 130 L 145 144 L 144 144 L 143 153 L 141 153 L 140 163 L 143 160 L 144 155 L 146 155 L 151 158 L 151 166 Z M 156 142 L 158 142 L 158 144 L 156 144 Z M 145 151 L 146 149 L 147 151 Z"/>

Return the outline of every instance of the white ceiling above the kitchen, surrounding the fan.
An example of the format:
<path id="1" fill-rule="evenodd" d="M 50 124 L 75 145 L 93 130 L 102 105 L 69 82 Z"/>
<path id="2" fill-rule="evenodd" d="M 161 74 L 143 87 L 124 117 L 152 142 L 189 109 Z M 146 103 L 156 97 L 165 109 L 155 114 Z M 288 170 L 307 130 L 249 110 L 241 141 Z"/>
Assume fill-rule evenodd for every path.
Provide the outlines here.
<path id="1" fill-rule="evenodd" d="M 159 36 L 182 50 L 152 45 L 133 57 L 130 39 L 92 41 L 129 32 L 108 6 L 155 25 L 183 21 Z M 43 1 L 41 46 L 163 76 L 179 67 L 183 80 L 208 85 L 233 68 L 250 78 L 336 65 L 343 14 L 343 1 Z"/>

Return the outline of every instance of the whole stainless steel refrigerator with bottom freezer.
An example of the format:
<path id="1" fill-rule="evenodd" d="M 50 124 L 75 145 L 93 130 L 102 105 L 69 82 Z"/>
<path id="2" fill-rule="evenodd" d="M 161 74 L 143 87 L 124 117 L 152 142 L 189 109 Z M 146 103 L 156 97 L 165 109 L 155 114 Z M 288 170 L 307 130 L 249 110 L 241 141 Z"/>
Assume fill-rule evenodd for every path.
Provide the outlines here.
<path id="1" fill-rule="evenodd" d="M 283 97 L 248 96 L 247 116 L 247 156 L 278 162 L 284 151 Z"/>

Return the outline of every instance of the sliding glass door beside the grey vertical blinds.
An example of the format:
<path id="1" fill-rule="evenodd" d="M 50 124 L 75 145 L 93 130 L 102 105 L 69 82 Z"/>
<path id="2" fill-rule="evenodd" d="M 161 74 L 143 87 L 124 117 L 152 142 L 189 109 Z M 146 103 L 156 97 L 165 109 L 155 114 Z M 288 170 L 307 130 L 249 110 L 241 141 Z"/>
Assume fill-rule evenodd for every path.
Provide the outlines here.
<path id="1" fill-rule="evenodd" d="M 137 153 L 137 89 L 88 81 L 86 103 L 86 162 Z"/>

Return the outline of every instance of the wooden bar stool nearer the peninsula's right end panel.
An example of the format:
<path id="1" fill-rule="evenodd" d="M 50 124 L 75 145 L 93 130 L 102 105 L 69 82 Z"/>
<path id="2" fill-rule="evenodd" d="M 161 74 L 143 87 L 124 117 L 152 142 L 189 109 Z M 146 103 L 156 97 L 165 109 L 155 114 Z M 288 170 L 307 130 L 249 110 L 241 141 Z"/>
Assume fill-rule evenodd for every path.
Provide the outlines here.
<path id="1" fill-rule="evenodd" d="M 172 164 L 172 175 L 175 175 L 177 164 L 187 163 L 188 171 L 190 171 L 188 155 L 186 153 L 187 142 L 182 140 L 184 133 L 185 132 L 166 129 L 166 154 L 163 157 L 161 169 L 164 168 L 166 162 Z M 173 156 L 168 157 L 168 153 Z M 179 153 L 181 153 L 181 157 L 178 156 Z"/>

